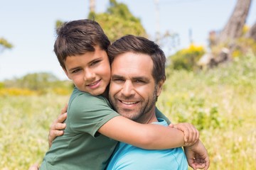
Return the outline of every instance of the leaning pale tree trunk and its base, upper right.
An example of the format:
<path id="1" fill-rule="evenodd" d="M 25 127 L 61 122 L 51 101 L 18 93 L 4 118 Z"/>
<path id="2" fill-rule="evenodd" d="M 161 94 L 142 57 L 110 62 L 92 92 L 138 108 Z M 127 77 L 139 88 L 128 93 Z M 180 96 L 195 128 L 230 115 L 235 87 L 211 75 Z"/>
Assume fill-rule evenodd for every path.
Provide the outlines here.
<path id="1" fill-rule="evenodd" d="M 210 53 L 204 55 L 198 64 L 201 67 L 216 66 L 221 62 L 232 60 L 233 54 L 245 54 L 248 49 L 254 48 L 251 40 L 246 40 L 243 35 L 245 21 L 250 10 L 251 0 L 238 0 L 235 9 L 218 35 L 215 31 L 209 34 Z M 247 38 L 253 38 L 256 26 L 252 26 Z M 203 62 L 202 62 L 203 61 Z"/>

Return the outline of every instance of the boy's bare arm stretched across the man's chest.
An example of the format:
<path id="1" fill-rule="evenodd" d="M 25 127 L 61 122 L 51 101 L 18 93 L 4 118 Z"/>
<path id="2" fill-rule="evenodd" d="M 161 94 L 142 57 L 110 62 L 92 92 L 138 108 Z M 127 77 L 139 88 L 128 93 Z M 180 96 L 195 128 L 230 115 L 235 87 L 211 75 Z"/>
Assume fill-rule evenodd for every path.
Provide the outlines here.
<path id="1" fill-rule="evenodd" d="M 184 134 L 176 128 L 140 124 L 122 116 L 107 121 L 98 132 L 114 140 L 144 149 L 169 149 L 185 146 Z M 193 145 L 195 142 L 188 145 Z"/>

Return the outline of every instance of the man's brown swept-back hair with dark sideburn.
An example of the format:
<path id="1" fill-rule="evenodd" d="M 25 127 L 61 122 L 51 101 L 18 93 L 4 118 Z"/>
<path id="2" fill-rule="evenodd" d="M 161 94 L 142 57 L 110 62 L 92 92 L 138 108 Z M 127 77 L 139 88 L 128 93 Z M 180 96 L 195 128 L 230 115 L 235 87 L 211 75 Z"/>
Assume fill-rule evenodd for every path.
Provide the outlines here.
<path id="1" fill-rule="evenodd" d="M 114 41 L 112 45 L 108 47 L 107 54 L 109 55 L 110 63 L 114 61 L 114 57 L 122 55 L 124 52 L 149 55 L 154 64 L 152 71 L 154 81 L 156 84 L 161 80 L 165 81 L 166 57 L 163 50 L 161 50 L 159 45 L 155 42 L 139 36 L 126 35 L 119 40 Z"/>

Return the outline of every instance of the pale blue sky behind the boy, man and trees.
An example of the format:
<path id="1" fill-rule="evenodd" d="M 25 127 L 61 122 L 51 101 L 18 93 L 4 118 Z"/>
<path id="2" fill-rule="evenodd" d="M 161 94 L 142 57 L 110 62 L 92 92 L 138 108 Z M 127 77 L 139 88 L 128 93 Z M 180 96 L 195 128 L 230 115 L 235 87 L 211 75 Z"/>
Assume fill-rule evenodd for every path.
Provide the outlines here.
<path id="1" fill-rule="evenodd" d="M 8 0 L 0 3 L 0 38 L 14 47 L 0 51 L 0 81 L 26 74 L 49 72 L 67 79 L 53 52 L 55 21 L 87 18 L 90 0 Z M 96 12 L 105 12 L 109 0 L 95 0 Z M 156 13 L 156 1 L 158 11 Z M 247 25 L 256 22 L 256 0 L 252 0 Z M 221 30 L 233 13 L 237 0 L 117 0 L 127 4 L 154 40 L 160 33 L 177 33 L 179 46 L 207 47 L 210 30 Z M 159 23 L 159 24 L 156 24 Z M 169 53 L 169 50 L 164 50 Z M 168 54 L 166 54 L 168 55 Z"/>

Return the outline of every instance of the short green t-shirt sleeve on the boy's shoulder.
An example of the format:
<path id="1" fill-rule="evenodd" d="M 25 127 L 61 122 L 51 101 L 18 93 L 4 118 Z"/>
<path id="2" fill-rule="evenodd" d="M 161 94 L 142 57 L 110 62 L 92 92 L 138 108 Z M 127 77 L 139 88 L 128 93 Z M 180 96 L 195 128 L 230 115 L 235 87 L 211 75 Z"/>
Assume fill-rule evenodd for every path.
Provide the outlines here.
<path id="1" fill-rule="evenodd" d="M 95 136 L 108 120 L 119 116 L 102 96 L 81 94 L 70 102 L 68 119 L 73 132 L 87 132 Z"/>

